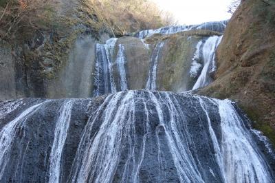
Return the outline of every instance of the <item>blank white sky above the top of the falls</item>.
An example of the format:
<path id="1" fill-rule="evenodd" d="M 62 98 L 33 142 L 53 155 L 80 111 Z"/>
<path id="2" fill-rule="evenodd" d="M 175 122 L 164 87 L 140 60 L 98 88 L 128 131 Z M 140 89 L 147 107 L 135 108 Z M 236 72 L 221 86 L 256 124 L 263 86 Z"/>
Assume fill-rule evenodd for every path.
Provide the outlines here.
<path id="1" fill-rule="evenodd" d="M 230 19 L 227 12 L 232 0 L 151 0 L 160 9 L 172 12 L 179 24 L 198 24 Z"/>

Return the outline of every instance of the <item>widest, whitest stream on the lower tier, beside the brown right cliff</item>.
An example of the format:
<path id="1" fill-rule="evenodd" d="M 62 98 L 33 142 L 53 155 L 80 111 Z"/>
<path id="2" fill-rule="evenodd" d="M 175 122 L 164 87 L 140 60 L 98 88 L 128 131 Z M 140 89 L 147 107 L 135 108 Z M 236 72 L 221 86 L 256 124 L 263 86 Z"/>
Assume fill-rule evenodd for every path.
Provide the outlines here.
<path id="1" fill-rule="evenodd" d="M 272 182 L 265 160 L 230 100 L 218 100 L 226 182 Z"/>

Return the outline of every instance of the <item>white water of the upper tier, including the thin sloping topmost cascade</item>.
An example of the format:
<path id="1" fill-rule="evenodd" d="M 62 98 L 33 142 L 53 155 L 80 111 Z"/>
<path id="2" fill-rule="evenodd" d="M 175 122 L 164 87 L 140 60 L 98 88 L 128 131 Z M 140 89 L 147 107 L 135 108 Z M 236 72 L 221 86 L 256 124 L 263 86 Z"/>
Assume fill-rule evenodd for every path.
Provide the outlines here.
<path id="1" fill-rule="evenodd" d="M 166 60 L 162 60 L 163 50 L 162 47 L 164 47 L 164 44 L 169 43 L 169 41 L 148 41 L 144 38 L 151 36 L 153 34 L 174 34 L 177 32 L 182 31 L 188 31 L 188 30 L 211 30 L 213 31 L 212 34 L 214 35 L 221 35 L 219 32 L 223 32 L 225 30 L 225 27 L 227 25 L 228 21 L 219 21 L 219 22 L 209 22 L 209 23 L 202 23 L 201 25 L 176 25 L 176 26 L 170 26 L 165 28 L 159 28 L 158 30 L 144 30 L 140 32 L 137 37 L 140 39 L 140 41 L 143 43 L 140 45 L 138 43 L 139 41 L 135 39 L 126 39 L 122 38 L 121 40 L 129 40 L 129 41 L 136 41 L 137 43 L 137 52 L 140 52 L 140 47 L 143 49 L 146 49 L 146 54 L 148 54 L 149 57 L 151 57 L 150 66 L 148 69 L 148 78 L 146 80 L 138 81 L 135 83 L 133 81 L 133 75 L 131 75 L 131 69 L 133 69 L 132 65 L 135 65 L 133 63 L 133 59 L 129 58 L 129 63 L 127 63 L 126 68 L 126 55 L 131 56 L 135 55 L 133 54 L 133 50 L 131 50 L 133 45 L 129 45 L 129 42 L 123 42 L 118 41 L 118 39 L 109 39 L 105 44 L 97 44 L 96 48 L 96 73 L 95 73 L 95 79 L 94 79 L 94 96 L 100 96 L 103 94 L 111 94 L 119 91 L 125 91 L 126 89 L 151 89 L 156 90 L 156 80 L 157 80 L 157 70 L 158 65 L 163 65 Z M 193 57 L 193 61 L 188 63 L 184 63 L 184 67 L 189 67 L 190 63 L 190 74 L 189 76 L 186 74 L 181 74 L 183 76 L 182 83 L 179 85 L 179 88 L 175 87 L 175 84 L 173 84 L 173 81 L 168 81 L 169 84 L 168 88 L 175 88 L 175 92 L 184 92 L 186 90 L 190 89 L 198 89 L 199 87 L 205 87 L 206 85 L 209 85 L 212 82 L 212 77 L 210 76 L 215 72 L 216 66 L 215 66 L 215 52 L 217 50 L 217 46 L 219 45 L 222 36 L 201 36 L 202 40 L 197 43 L 197 48 L 195 52 L 195 56 Z M 190 36 L 188 37 L 188 41 L 192 40 Z M 197 40 L 196 40 L 197 41 Z M 124 44 L 120 44 L 120 43 Z M 192 43 L 190 41 L 190 43 Z M 151 44 L 148 44 L 151 43 Z M 187 42 L 184 44 L 188 44 Z M 115 47 L 116 46 L 116 47 Z M 128 46 L 130 49 L 127 49 Z M 169 48 L 168 44 L 168 48 Z M 188 45 L 192 46 L 192 45 Z M 125 49 L 126 47 L 126 49 Z M 151 48 L 154 49 L 152 50 Z M 117 50 L 117 52 L 114 52 L 114 50 Z M 186 48 L 184 48 L 186 49 Z M 131 51 L 130 51 L 131 50 Z M 167 51 L 168 49 L 166 49 Z M 193 50 L 193 49 L 190 49 Z M 184 52 L 188 54 L 193 54 L 190 52 L 190 50 L 183 50 Z M 142 53 L 143 57 L 145 59 L 145 54 Z M 168 53 L 169 54 L 169 53 Z M 188 58 L 189 56 L 184 56 Z M 177 56 L 176 56 L 177 58 Z M 184 59 L 186 59 L 184 58 Z M 166 59 L 164 55 L 164 59 Z M 188 58 L 190 59 L 190 58 Z M 147 60 L 144 60 L 144 63 L 140 63 L 141 67 L 142 65 L 146 65 Z M 186 61 L 184 61 L 186 62 Z M 179 64 L 179 63 L 177 63 Z M 116 67 L 115 67 L 116 66 Z M 168 66 L 168 65 L 167 65 Z M 163 66 L 162 66 L 163 67 Z M 139 69 L 139 68 L 137 68 Z M 185 68 L 184 68 L 185 69 Z M 189 68 L 188 68 L 189 69 Z M 142 72 L 144 69 L 142 70 Z M 173 72 L 173 71 L 169 71 Z M 177 71 L 175 71 L 177 73 Z M 186 73 L 186 70 L 184 70 Z M 177 77 L 179 77 L 179 73 L 177 74 Z M 141 73 L 144 74 L 144 73 Z M 166 77 L 166 76 L 165 76 Z M 197 82 L 195 82 L 195 79 L 197 79 Z M 165 78 L 166 79 L 166 78 Z M 127 83 L 127 80 L 129 83 Z M 161 79 L 162 82 L 164 78 Z M 166 79 L 167 80 L 167 79 Z M 140 83 L 142 82 L 142 83 Z M 180 82 L 180 80 L 177 80 L 175 82 Z M 172 83 L 172 84 L 171 84 Z M 166 83 L 165 83 L 166 84 Z M 165 85 L 164 83 L 161 83 L 161 85 L 158 86 L 159 89 L 163 89 Z M 117 85 L 117 86 L 116 86 Z M 172 86 L 170 86 L 172 85 Z M 133 87 L 135 86 L 135 87 Z M 138 87 L 136 87 L 138 86 Z M 142 86 L 142 87 L 140 87 Z"/>

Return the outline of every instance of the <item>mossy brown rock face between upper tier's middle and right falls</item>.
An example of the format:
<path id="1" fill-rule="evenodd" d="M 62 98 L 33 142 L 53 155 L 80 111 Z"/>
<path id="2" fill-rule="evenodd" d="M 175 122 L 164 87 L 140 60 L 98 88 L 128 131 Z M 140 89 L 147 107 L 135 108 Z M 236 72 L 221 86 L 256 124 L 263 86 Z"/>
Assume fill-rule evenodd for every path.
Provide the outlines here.
<path id="1" fill-rule="evenodd" d="M 175 36 L 165 42 L 157 69 L 157 89 L 184 92 L 192 89 L 195 78 L 189 71 L 201 37 Z"/>

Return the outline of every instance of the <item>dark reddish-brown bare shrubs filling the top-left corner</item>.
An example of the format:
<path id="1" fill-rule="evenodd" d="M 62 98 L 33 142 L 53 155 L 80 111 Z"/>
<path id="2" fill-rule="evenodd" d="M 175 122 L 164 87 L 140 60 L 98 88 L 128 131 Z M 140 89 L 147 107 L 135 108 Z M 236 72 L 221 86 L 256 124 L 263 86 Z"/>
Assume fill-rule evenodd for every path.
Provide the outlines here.
<path id="1" fill-rule="evenodd" d="M 49 29 L 54 0 L 0 0 L 0 39 Z"/>

